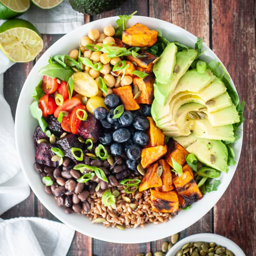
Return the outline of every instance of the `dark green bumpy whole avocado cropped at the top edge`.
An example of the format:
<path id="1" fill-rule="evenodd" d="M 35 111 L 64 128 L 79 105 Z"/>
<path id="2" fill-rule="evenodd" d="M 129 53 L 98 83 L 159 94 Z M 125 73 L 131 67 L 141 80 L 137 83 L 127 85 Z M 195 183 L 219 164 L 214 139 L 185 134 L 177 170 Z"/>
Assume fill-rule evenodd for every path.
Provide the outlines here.
<path id="1" fill-rule="evenodd" d="M 71 7 L 80 13 L 94 15 L 121 6 L 126 0 L 69 0 Z"/>

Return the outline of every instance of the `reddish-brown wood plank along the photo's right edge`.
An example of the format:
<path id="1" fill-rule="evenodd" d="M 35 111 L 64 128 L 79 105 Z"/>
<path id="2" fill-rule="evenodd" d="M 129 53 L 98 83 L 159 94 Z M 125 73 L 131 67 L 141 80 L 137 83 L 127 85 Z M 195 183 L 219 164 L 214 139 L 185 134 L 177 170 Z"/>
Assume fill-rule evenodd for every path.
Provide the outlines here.
<path id="1" fill-rule="evenodd" d="M 228 68 L 240 99 L 244 98 L 241 158 L 229 188 L 215 207 L 215 233 L 237 243 L 246 255 L 256 251 L 255 204 L 255 8 L 253 0 L 212 1 L 212 46 Z"/>

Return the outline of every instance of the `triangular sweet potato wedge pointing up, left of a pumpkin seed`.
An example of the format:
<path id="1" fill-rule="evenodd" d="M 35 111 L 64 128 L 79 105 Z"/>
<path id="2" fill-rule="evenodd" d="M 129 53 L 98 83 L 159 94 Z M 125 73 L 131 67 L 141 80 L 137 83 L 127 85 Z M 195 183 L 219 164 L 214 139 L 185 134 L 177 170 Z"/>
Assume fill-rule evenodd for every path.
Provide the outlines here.
<path id="1" fill-rule="evenodd" d="M 139 186 L 140 192 L 146 189 L 162 186 L 162 179 L 156 175 L 158 166 L 158 163 L 154 163 L 148 167 Z"/>

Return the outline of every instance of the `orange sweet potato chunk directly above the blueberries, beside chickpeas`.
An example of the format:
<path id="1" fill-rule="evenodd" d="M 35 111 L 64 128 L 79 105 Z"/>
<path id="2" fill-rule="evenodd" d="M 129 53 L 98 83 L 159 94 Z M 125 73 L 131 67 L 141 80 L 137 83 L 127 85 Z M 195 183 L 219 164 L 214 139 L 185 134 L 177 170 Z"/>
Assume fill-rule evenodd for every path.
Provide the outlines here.
<path id="1" fill-rule="evenodd" d="M 140 108 L 139 104 L 133 98 L 133 90 L 130 85 L 115 88 L 113 92 L 120 97 L 125 110 L 136 110 Z"/>

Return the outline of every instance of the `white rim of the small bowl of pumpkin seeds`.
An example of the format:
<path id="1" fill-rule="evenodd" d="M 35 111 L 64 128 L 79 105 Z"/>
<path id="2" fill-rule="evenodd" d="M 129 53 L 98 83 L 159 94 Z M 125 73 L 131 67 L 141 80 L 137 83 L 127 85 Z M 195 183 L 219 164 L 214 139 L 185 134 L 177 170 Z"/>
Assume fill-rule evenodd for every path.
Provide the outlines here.
<path id="1" fill-rule="evenodd" d="M 231 250 L 235 256 L 245 256 L 243 250 L 233 241 L 229 240 L 225 236 L 220 236 L 212 233 L 201 233 L 201 234 L 195 234 L 192 236 L 188 236 L 183 238 L 178 243 L 175 243 L 175 245 L 168 251 L 166 256 L 175 256 L 176 252 L 182 248 L 183 245 L 186 243 L 191 242 L 214 242 L 216 245 L 221 245 L 225 247 L 226 249 Z"/>

